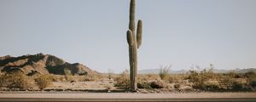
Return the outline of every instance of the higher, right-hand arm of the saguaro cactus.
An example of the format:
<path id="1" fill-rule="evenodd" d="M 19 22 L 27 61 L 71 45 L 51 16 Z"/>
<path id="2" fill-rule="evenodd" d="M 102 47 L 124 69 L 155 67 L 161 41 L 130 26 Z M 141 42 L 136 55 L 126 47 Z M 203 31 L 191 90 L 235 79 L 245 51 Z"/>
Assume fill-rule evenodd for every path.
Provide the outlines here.
<path id="1" fill-rule="evenodd" d="M 143 20 L 138 20 L 137 22 L 137 48 L 142 45 L 143 39 Z"/>

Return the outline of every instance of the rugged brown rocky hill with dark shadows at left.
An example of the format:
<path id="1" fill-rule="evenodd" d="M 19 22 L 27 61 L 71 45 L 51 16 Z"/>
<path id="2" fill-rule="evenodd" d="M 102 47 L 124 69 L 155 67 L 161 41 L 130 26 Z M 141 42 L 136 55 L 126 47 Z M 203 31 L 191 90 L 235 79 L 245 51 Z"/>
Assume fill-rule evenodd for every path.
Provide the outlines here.
<path id="1" fill-rule="evenodd" d="M 85 65 L 70 64 L 63 59 L 50 54 L 34 54 L 12 57 L 0 57 L 0 70 L 5 72 L 22 71 L 26 74 L 38 72 L 40 74 L 64 75 L 67 71 L 73 75 L 95 75 L 99 72 L 92 71 Z"/>

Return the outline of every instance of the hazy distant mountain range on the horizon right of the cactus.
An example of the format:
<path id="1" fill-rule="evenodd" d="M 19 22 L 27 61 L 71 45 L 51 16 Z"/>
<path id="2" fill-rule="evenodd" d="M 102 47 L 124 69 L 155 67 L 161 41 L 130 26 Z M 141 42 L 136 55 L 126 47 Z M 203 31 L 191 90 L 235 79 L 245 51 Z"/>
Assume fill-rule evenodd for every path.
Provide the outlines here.
<path id="1" fill-rule="evenodd" d="M 247 68 L 247 69 L 235 69 L 235 70 L 220 70 L 220 69 L 213 69 L 213 72 L 215 73 L 228 73 L 228 72 L 236 72 L 236 73 L 246 73 L 247 71 L 255 71 L 256 72 L 256 68 Z M 159 74 L 160 69 L 149 69 L 149 70 L 139 70 L 138 73 L 139 74 Z M 169 70 L 169 73 L 171 74 L 184 74 L 188 71 L 186 70 L 179 70 L 179 71 L 173 71 L 173 70 Z"/>

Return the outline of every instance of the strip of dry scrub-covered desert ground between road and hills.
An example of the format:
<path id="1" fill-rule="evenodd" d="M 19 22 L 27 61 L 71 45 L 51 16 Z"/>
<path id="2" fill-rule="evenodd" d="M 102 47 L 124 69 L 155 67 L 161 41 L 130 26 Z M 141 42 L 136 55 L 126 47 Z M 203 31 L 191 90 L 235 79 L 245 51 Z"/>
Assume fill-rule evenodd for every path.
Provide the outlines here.
<path id="1" fill-rule="evenodd" d="M 187 74 L 169 74 L 170 66 L 162 67 L 158 74 L 137 75 L 138 91 L 159 93 L 161 91 L 253 91 L 256 86 L 254 71 L 247 73 L 213 73 L 210 68 L 201 71 L 189 71 Z M 115 89 L 131 89 L 129 72 L 121 74 L 104 75 L 86 74 L 83 76 L 71 75 L 65 70 L 66 75 L 25 74 L 20 70 L 0 73 L 0 90 L 81 90 L 81 88 L 104 88 L 104 92 Z M 109 78 L 110 77 L 110 78 Z M 51 86 L 52 85 L 52 86 Z M 75 88 L 75 89 L 74 89 Z M 79 89 L 77 89 L 79 88 Z"/>

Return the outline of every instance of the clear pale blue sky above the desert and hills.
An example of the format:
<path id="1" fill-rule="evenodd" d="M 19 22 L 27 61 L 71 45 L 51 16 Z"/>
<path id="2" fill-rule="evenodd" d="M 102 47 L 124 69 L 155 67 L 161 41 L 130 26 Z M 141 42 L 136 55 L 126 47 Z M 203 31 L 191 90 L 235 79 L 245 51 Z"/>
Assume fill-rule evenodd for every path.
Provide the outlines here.
<path id="1" fill-rule="evenodd" d="M 0 0 L 0 56 L 53 54 L 114 72 L 129 69 L 130 0 Z M 256 67 L 256 0 L 137 0 L 138 69 Z"/>

